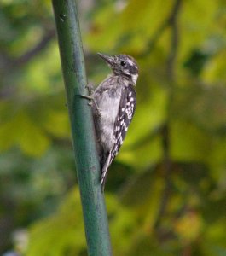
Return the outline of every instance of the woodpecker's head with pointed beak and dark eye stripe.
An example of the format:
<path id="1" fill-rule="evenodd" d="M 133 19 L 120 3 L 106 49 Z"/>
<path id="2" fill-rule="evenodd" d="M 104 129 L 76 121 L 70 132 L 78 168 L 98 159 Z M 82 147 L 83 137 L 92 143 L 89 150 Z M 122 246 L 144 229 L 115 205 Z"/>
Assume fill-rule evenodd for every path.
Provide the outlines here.
<path id="1" fill-rule="evenodd" d="M 131 79 L 132 84 L 136 84 L 138 78 L 138 67 L 133 57 L 129 55 L 104 55 L 97 53 L 107 65 L 112 68 L 115 75 L 122 75 Z"/>

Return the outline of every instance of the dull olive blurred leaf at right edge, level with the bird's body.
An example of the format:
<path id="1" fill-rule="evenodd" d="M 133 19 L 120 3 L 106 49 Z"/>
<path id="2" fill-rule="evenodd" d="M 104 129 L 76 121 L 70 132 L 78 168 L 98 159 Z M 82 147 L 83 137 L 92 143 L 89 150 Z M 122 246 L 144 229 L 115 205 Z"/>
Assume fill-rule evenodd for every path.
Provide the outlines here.
<path id="1" fill-rule="evenodd" d="M 176 89 L 172 102 L 173 116 L 187 119 L 206 131 L 225 133 L 226 90 L 223 86 L 205 88 L 192 84 L 188 88 Z"/>

